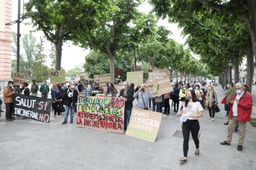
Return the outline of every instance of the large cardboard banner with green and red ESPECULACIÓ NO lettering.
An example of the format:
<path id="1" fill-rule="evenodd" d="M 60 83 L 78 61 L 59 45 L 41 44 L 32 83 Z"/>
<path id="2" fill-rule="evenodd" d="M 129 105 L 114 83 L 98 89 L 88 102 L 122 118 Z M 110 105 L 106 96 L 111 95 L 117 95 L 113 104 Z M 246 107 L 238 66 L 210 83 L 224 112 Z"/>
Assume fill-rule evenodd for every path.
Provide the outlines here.
<path id="1" fill-rule="evenodd" d="M 77 127 L 123 134 L 124 103 L 117 97 L 79 97 Z"/>

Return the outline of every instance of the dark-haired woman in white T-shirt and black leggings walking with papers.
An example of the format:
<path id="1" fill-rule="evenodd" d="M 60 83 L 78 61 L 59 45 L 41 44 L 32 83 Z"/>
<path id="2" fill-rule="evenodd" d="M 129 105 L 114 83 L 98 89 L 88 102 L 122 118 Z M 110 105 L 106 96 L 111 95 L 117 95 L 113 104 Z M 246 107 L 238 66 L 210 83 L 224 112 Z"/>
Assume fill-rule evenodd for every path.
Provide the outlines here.
<path id="1" fill-rule="evenodd" d="M 181 163 L 187 163 L 187 152 L 189 152 L 189 134 L 191 131 L 192 138 L 195 142 L 195 156 L 199 155 L 199 140 L 198 132 L 200 125 L 198 118 L 203 116 L 203 107 L 197 102 L 197 95 L 194 91 L 187 91 L 185 97 L 185 105 L 181 115 L 187 116 L 187 120 L 182 123 L 182 134 L 183 134 L 183 154 L 184 157 L 180 160 Z M 182 115 L 183 116 L 183 115 Z"/>

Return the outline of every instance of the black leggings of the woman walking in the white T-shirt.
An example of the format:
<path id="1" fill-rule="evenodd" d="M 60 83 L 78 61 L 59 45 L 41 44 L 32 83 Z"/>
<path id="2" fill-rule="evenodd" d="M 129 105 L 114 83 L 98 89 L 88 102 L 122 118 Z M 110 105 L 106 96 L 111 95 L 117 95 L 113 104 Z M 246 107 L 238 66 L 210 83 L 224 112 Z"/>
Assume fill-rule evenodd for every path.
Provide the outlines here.
<path id="1" fill-rule="evenodd" d="M 189 134 L 191 131 L 192 138 L 195 142 L 195 148 L 199 148 L 198 132 L 200 125 L 197 119 L 190 120 L 187 119 L 186 122 L 182 123 L 182 134 L 183 134 L 183 154 L 187 157 L 187 152 L 189 152 Z"/>

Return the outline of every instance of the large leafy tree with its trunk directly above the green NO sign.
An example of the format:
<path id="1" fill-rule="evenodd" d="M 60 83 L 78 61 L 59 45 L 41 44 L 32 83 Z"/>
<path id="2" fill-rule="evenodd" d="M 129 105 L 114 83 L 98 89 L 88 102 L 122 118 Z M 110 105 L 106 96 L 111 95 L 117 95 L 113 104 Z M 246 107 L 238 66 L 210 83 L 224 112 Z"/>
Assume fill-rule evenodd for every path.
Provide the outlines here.
<path id="1" fill-rule="evenodd" d="M 90 34 L 96 18 L 108 15 L 108 0 L 30 0 L 25 6 L 33 26 L 43 31 L 55 46 L 56 70 L 61 70 L 62 44 L 70 39 L 70 34 L 79 29 L 85 32 L 84 35 Z"/>

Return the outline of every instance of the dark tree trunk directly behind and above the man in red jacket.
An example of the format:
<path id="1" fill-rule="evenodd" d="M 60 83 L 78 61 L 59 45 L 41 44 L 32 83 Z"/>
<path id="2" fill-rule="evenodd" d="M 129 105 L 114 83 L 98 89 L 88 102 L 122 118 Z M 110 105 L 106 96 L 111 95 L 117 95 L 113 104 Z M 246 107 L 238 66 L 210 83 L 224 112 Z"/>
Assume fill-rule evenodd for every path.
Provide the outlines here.
<path id="1" fill-rule="evenodd" d="M 252 49 L 252 46 L 250 46 L 247 49 L 247 76 L 246 76 L 246 82 L 247 86 L 249 86 L 250 89 L 252 89 L 252 79 L 254 76 L 254 51 Z"/>

